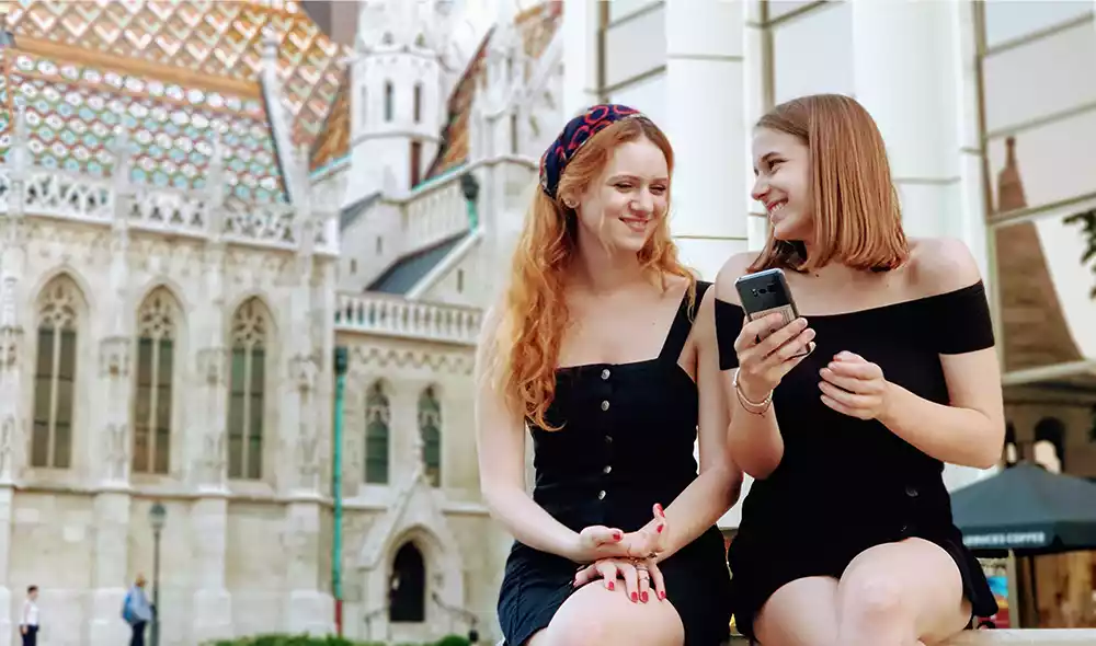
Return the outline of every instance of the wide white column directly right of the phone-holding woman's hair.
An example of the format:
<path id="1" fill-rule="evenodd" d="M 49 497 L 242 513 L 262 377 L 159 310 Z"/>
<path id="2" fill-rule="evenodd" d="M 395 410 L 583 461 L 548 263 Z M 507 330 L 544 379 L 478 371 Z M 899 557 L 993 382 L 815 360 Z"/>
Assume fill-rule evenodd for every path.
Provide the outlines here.
<path id="1" fill-rule="evenodd" d="M 887 142 L 910 237 L 954 234 L 962 215 L 951 12 L 950 2 L 852 3 L 856 99 Z"/>

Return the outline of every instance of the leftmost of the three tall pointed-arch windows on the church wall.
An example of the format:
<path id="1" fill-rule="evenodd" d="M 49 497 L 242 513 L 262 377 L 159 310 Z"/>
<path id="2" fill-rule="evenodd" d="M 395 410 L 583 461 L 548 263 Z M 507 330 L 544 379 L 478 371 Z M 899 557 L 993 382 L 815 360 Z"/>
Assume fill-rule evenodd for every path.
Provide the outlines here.
<path id="1" fill-rule="evenodd" d="M 37 310 L 31 466 L 68 469 L 83 295 L 71 278 L 57 276 L 42 290 Z"/>

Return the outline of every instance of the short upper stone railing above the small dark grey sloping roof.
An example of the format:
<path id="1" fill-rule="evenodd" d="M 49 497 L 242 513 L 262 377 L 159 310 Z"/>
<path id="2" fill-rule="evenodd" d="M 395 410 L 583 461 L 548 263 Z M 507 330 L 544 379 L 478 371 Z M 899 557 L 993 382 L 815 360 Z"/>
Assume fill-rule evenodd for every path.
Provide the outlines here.
<path id="1" fill-rule="evenodd" d="M 468 230 L 468 204 L 460 188 L 465 170 L 442 175 L 408 196 L 401 221 L 404 240 L 426 247 Z"/>

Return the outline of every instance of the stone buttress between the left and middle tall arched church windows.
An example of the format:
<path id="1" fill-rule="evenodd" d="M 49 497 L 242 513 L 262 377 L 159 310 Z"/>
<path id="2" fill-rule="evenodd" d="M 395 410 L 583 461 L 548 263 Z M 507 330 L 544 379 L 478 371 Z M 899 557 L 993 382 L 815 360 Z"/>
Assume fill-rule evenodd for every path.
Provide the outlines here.
<path id="1" fill-rule="evenodd" d="M 92 465 L 89 474 L 99 484 L 94 508 L 94 551 L 91 593 L 90 643 L 117 644 L 126 637 L 118 613 L 126 595 L 129 545 L 129 458 L 130 365 L 133 319 L 129 302 L 128 209 L 134 199 L 129 184 L 128 134 L 122 130 L 114 143 L 114 221 L 111 230 L 111 269 L 107 336 L 99 346 L 99 383 L 105 390 L 101 402 L 101 426 L 96 441 L 90 442 Z"/>

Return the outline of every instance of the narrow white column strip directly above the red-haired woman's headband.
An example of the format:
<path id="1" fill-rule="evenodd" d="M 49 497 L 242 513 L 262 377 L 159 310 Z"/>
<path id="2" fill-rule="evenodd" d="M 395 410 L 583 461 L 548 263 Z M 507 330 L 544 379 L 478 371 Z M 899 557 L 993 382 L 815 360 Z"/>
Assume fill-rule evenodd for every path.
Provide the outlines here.
<path id="1" fill-rule="evenodd" d="M 601 2 L 563 4 L 563 120 L 597 103 L 597 15 Z"/>

